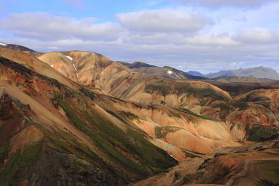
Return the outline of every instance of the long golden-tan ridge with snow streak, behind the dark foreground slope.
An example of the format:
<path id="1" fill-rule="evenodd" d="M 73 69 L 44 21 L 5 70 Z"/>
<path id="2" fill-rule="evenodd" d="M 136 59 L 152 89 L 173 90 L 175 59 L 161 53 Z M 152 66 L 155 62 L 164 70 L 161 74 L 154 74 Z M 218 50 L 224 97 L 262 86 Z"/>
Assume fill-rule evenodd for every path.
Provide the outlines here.
<path id="1" fill-rule="evenodd" d="M 144 75 L 92 52 L 50 52 L 38 59 L 75 82 L 123 100 L 185 107 L 197 114 L 216 98 L 231 100 L 229 93 L 211 84 Z"/>

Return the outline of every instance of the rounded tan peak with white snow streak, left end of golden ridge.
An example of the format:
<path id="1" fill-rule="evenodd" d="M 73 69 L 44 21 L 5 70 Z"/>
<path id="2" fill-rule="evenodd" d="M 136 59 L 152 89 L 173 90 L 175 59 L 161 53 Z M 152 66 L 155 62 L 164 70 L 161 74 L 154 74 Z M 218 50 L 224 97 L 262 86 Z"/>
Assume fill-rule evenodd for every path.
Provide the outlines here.
<path id="1" fill-rule="evenodd" d="M 100 72 L 112 63 L 101 54 L 80 51 L 49 52 L 38 56 L 38 59 L 79 84 L 97 88 L 100 88 L 96 82 Z"/>

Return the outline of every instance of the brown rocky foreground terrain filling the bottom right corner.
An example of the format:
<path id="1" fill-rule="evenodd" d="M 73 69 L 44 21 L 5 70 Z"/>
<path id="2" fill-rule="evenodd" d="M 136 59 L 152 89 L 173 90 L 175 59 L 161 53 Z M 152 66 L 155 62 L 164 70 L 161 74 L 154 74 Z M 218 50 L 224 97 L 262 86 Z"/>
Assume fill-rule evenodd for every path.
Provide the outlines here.
<path id="1" fill-rule="evenodd" d="M 278 185 L 279 141 L 216 150 L 133 185 Z"/>

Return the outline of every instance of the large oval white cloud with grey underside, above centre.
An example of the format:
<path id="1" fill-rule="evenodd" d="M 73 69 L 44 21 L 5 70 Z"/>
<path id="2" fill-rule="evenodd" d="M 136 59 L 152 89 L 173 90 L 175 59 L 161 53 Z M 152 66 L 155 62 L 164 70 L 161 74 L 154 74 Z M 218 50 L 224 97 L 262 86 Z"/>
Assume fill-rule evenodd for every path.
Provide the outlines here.
<path id="1" fill-rule="evenodd" d="M 123 26 L 131 30 L 147 32 L 195 32 L 213 24 L 213 21 L 204 15 L 172 9 L 120 13 L 116 17 Z"/>

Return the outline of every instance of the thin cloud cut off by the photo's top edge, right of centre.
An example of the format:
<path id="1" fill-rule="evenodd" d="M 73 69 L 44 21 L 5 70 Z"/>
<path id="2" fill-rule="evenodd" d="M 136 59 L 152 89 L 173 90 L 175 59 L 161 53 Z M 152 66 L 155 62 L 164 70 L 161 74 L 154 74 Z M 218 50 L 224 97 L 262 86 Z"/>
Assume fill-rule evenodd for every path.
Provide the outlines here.
<path id="1" fill-rule="evenodd" d="M 251 7 L 260 6 L 264 3 L 278 0 L 170 0 L 179 1 L 181 3 L 190 5 L 201 5 L 209 7 L 221 7 L 221 6 L 235 6 L 235 7 Z"/>

